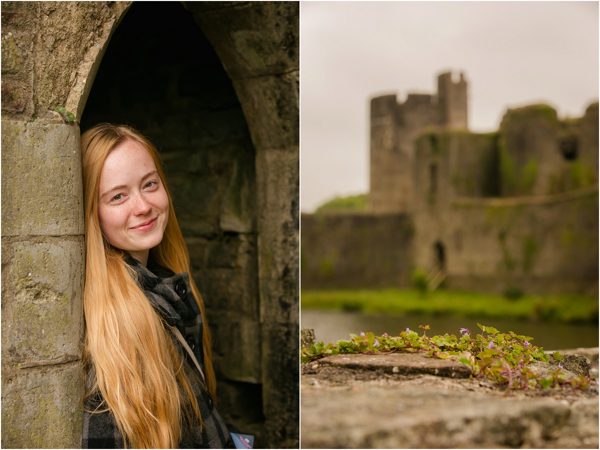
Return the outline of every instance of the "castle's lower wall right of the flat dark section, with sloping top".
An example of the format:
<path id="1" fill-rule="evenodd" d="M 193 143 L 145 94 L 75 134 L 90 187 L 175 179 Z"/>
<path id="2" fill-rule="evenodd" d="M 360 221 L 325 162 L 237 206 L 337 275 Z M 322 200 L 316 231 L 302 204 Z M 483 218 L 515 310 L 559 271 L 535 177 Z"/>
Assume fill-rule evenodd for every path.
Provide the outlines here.
<path id="1" fill-rule="evenodd" d="M 445 246 L 451 289 L 598 293 L 598 189 L 536 199 L 455 199 L 445 227 L 419 215 L 416 264 Z"/>

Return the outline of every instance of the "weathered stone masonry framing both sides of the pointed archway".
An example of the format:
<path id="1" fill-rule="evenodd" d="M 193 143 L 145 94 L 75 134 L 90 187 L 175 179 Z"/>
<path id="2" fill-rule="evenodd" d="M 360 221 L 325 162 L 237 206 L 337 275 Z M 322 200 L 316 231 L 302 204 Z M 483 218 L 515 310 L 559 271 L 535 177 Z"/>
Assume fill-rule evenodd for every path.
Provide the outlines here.
<path id="1" fill-rule="evenodd" d="M 130 5 L 2 2 L 4 447 L 80 445 L 85 250 L 79 119 L 109 37 Z M 250 154 L 254 168 L 248 172 L 244 166 L 242 172 L 254 174 L 238 182 L 240 163 L 233 165 L 223 208 L 215 216 L 218 226 L 230 231 L 215 243 L 204 238 L 188 241 L 196 245 L 191 253 L 200 250 L 204 255 L 194 270 L 197 280 L 212 286 L 212 298 L 227 299 L 232 308 L 250 313 L 247 321 L 233 322 L 231 329 L 219 325 L 232 317 L 224 313 L 225 320 L 217 318 L 215 337 L 227 342 L 218 334 L 238 330 L 232 350 L 244 352 L 244 362 L 251 364 L 236 368 L 224 352 L 217 365 L 225 379 L 248 378 L 250 370 L 250 381 L 262 386 L 263 445 L 294 447 L 298 445 L 298 5 L 184 2 L 184 7 L 232 80 L 254 148 Z M 51 112 L 56 106 L 74 113 L 76 122 L 67 124 Z M 185 163 L 185 155 L 181 158 Z M 236 186 L 247 185 L 252 178 L 254 187 L 236 196 Z M 193 217 L 188 219 L 193 227 Z M 240 237 L 234 238 L 233 232 Z M 206 253 L 207 247 L 212 253 Z M 207 254 L 212 260 L 220 258 L 216 269 L 203 265 Z M 240 263 L 256 269 L 244 275 L 235 269 Z M 226 266 L 241 273 L 230 285 L 248 283 L 247 292 L 243 287 L 239 291 L 241 299 L 235 295 L 232 299 L 231 290 L 224 292 L 220 286 L 227 283 L 222 280 L 211 284 L 215 275 L 224 273 L 219 267 Z M 215 307 L 210 299 L 207 307 Z"/>

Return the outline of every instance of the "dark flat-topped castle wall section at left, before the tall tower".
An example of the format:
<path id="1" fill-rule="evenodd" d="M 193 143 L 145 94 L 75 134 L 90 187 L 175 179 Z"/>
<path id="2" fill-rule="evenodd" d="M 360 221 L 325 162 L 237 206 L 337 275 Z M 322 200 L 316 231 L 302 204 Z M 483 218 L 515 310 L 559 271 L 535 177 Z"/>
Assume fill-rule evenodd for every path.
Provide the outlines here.
<path id="1" fill-rule="evenodd" d="M 302 214 L 302 289 L 408 287 L 413 224 L 406 214 Z"/>

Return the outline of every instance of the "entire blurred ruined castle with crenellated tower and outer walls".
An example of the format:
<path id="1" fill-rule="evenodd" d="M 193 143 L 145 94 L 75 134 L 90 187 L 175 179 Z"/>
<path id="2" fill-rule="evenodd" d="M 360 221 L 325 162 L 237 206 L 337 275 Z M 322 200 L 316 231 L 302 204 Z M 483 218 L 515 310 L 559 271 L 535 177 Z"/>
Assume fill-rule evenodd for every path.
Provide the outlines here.
<path id="1" fill-rule="evenodd" d="M 598 103 L 470 133 L 467 81 L 371 99 L 366 211 L 302 214 L 301 287 L 598 293 Z"/>

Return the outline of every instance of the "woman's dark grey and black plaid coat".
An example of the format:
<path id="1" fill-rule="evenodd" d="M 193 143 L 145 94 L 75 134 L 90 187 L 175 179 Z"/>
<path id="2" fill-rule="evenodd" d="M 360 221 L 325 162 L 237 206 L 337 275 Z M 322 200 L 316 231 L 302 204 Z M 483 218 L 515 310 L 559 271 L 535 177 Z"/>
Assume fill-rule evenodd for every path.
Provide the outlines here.
<path id="1" fill-rule="evenodd" d="M 152 306 L 169 325 L 179 329 L 204 369 L 202 316 L 191 292 L 188 274 L 183 272 L 175 275 L 161 268 L 151 259 L 148 261 L 148 268 L 131 257 L 127 259 L 127 263 L 140 275 L 140 284 Z M 176 339 L 174 341 L 179 346 L 179 342 Z M 197 377 L 190 374 L 188 379 L 196 394 L 203 422 L 203 427 L 199 425 L 191 429 L 183 427 L 180 448 L 235 448 L 226 423 L 212 403 L 211 395 L 197 381 L 197 378 L 202 380 L 202 376 L 187 352 L 181 346 L 179 350 L 185 355 L 190 370 L 196 372 Z M 92 376 L 93 373 L 90 378 Z M 86 409 L 93 410 L 101 401 L 101 397 L 87 398 Z M 236 431 L 235 428 L 232 427 L 232 431 Z M 124 446 L 121 431 L 110 412 L 83 413 L 82 448 L 124 448 Z"/>

